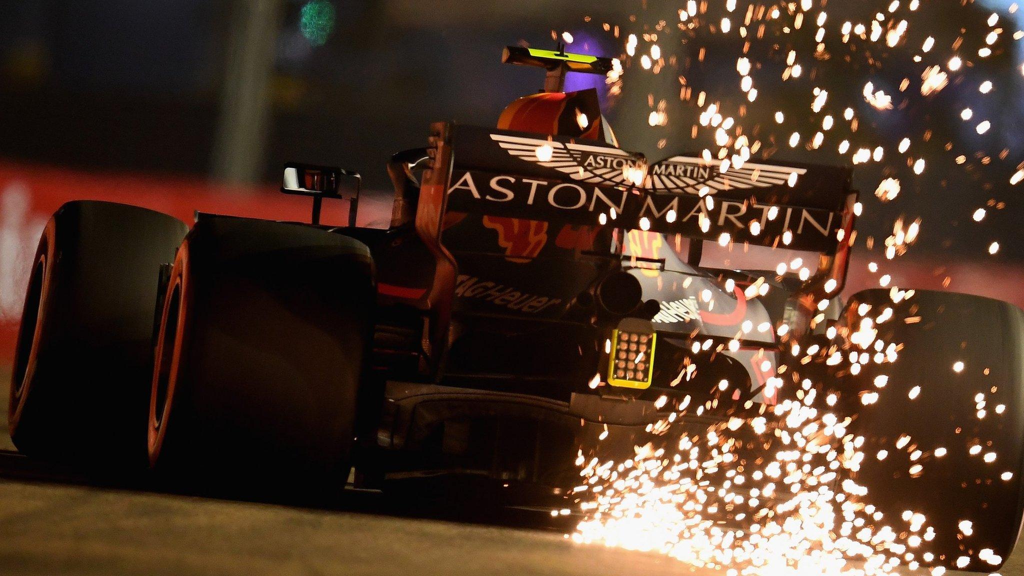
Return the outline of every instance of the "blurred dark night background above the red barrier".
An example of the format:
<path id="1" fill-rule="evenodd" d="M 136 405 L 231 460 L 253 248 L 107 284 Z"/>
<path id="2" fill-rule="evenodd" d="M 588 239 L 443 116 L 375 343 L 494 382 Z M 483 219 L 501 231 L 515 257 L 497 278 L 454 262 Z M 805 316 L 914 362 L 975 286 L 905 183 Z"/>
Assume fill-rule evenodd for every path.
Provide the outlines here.
<path id="1" fill-rule="evenodd" d="M 386 190 L 385 159 L 397 150 L 420 146 L 429 122 L 493 125 L 504 106 L 540 87 L 540 71 L 500 65 L 504 45 L 524 41 L 549 47 L 554 44 L 552 31 L 570 31 L 575 36 L 570 49 L 618 55 L 627 34 L 650 31 L 658 19 L 678 23 L 677 10 L 685 2 L 621 2 L 609 7 L 597 1 L 334 0 L 334 26 L 323 45 L 303 34 L 305 4 L 0 0 L 0 159 L 89 171 L 224 179 L 215 159 L 221 146 L 218 122 L 230 108 L 222 95 L 227 72 L 238 61 L 231 55 L 232 34 L 247 12 L 266 9 L 272 30 L 266 33 L 270 48 L 265 61 L 272 66 L 267 66 L 265 92 L 269 116 L 265 127 L 252 133 L 255 141 L 262 142 L 259 160 L 226 179 L 270 182 L 284 161 L 301 160 L 356 168 L 370 188 Z M 829 19 L 866 19 L 863 13 L 873 13 L 874 4 L 881 9 L 887 2 L 833 2 Z M 955 5 L 955 14 L 944 5 Z M 920 17 L 910 23 L 913 40 L 907 46 L 920 46 L 922 30 L 935 35 L 937 45 L 948 46 L 961 28 L 984 29 L 989 13 L 983 3 L 967 7 L 958 2 L 926 3 Z M 587 15 L 592 16 L 589 23 Z M 603 22 L 621 25 L 622 37 L 603 32 Z M 870 114 L 858 94 L 867 79 L 890 93 L 897 92 L 904 76 L 920 80 L 914 77 L 920 72 L 911 70 L 909 49 L 876 54 L 885 65 L 881 71 L 845 65 L 839 58 L 807 63 L 820 67 L 821 81 L 831 91 L 829 104 L 859 102 L 858 116 L 865 119 L 861 133 L 877 135 L 887 147 L 887 170 L 872 164 L 856 172 L 856 183 L 865 193 L 862 234 L 881 240 L 891 233 L 896 216 L 921 216 L 922 237 L 911 254 L 945 257 L 951 251 L 961 259 L 1024 260 L 1020 192 L 1008 181 L 1015 164 L 1024 158 L 1018 146 L 1024 118 L 1020 54 L 1011 34 L 1012 30 L 1004 35 L 1005 49 L 984 61 L 985 72 L 980 67 L 965 72 L 958 83 L 951 82 L 941 93 L 928 99 L 916 94 L 905 108 L 886 115 Z M 658 43 L 667 55 L 678 55 L 680 60 L 692 57 L 687 50 L 694 42 L 686 45 L 681 39 L 675 31 Z M 702 42 L 720 56 L 719 63 L 731 66 L 732 52 L 738 54 L 737 40 L 735 35 L 719 35 Z M 716 68 L 712 61 L 687 72 L 690 84 L 721 86 L 717 91 L 728 93 L 736 82 L 735 71 Z M 606 114 L 624 148 L 658 158 L 707 146 L 689 139 L 698 113 L 692 104 L 679 100 L 677 76 L 671 70 L 653 76 L 639 67 L 628 68 L 624 94 Z M 986 77 L 997 88 L 982 101 L 976 86 Z M 570 86 L 603 89 L 601 80 L 577 78 Z M 786 111 L 787 118 L 809 117 L 804 105 L 792 104 L 795 100 L 781 82 L 776 81 L 777 86 L 770 80 L 758 82 L 762 104 L 774 98 L 778 101 L 772 106 Z M 648 93 L 655 101 L 668 101 L 668 126 L 647 125 Z M 899 99 L 897 94 L 896 104 Z M 959 121 L 957 114 L 965 105 L 974 109 L 976 119 L 991 119 L 993 130 L 982 137 L 974 132 L 973 123 Z M 876 117 L 883 123 L 867 125 L 867 119 Z M 776 129 L 770 120 L 764 125 Z M 779 129 L 779 134 L 793 129 L 811 133 L 797 125 Z M 929 129 L 933 131 L 929 143 L 934 146 L 925 155 L 929 159 L 925 174 L 914 177 L 907 166 L 893 169 L 888 160 L 897 158 L 896 142 L 909 135 L 916 143 Z M 667 145 L 659 151 L 662 138 Z M 957 148 L 943 151 L 947 140 Z M 814 153 L 783 145 L 774 158 L 842 162 L 834 152 L 835 142 L 826 142 L 823 150 L 828 152 Z M 984 156 L 995 159 L 1004 148 L 1010 150 L 1006 161 L 982 163 Z M 968 156 L 966 165 L 952 162 L 958 154 Z M 900 177 L 903 192 L 898 202 L 882 205 L 870 193 L 887 175 Z M 989 200 L 1005 202 L 1005 208 L 990 208 L 984 222 L 973 222 L 972 212 Z M 989 256 L 986 249 L 993 240 L 999 241 L 1000 251 Z"/>

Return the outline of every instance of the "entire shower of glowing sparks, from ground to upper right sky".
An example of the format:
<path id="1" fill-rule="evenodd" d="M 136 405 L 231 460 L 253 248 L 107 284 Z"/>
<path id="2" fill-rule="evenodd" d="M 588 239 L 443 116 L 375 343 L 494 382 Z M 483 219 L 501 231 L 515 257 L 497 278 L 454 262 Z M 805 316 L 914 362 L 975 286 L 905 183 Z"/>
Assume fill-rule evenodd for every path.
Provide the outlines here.
<path id="1" fill-rule="evenodd" d="M 988 154 L 969 148 L 977 147 L 979 136 L 985 137 L 992 128 L 992 121 L 981 117 L 981 111 L 991 108 L 983 106 L 984 98 L 999 91 L 995 78 L 980 82 L 971 78 L 984 74 L 986 57 L 1008 51 L 1009 37 L 1019 40 L 1024 38 L 1024 32 L 1007 33 L 1009 18 L 1004 22 L 1002 16 L 992 13 L 986 20 L 987 28 L 965 28 L 952 44 L 937 41 L 929 34 L 933 32 L 930 23 L 920 15 L 927 1 L 874 3 L 883 8 L 866 9 L 857 19 L 851 17 L 845 4 L 843 17 L 833 17 L 824 0 L 775 4 L 686 0 L 678 10 L 677 20 L 655 18 L 656 25 L 641 26 L 641 18 L 634 15 L 629 24 L 603 25 L 605 32 L 623 42 L 623 53 L 613 60 L 606 82 L 614 97 L 622 93 L 630 75 L 678 76 L 676 87 L 681 86 L 679 98 L 687 113 L 673 113 L 670 118 L 666 100 L 648 94 L 648 124 L 663 130 L 678 127 L 693 141 L 713 142 L 700 156 L 723 172 L 758 156 L 767 159 L 776 151 L 799 148 L 820 150 L 827 155 L 822 160 L 826 164 L 837 163 L 838 151 L 843 163 L 878 165 L 885 177 L 874 196 L 883 203 L 900 197 L 901 180 L 905 188 L 916 189 L 918 176 L 926 169 L 976 167 L 969 159 L 978 159 L 982 165 L 1008 163 L 1006 173 L 1013 172 L 1009 183 L 1024 181 L 1024 162 L 1013 166 L 1013 162 L 1021 161 L 1020 153 L 1014 159 L 1010 150 Z M 1016 10 L 1016 4 L 1008 6 L 1009 12 Z M 954 12 L 950 4 L 946 17 L 958 17 Z M 630 33 L 630 28 L 636 30 Z M 734 43 L 731 49 L 729 42 Z M 702 86 L 708 79 L 707 70 L 701 69 L 715 68 L 713 57 L 721 58 L 722 53 L 729 54 L 730 59 L 717 63 L 720 66 L 716 70 L 737 77 L 730 76 L 733 80 L 726 87 L 714 83 Z M 914 72 L 901 72 L 905 76 L 901 82 L 889 83 L 881 76 L 887 59 L 901 59 L 900 70 Z M 969 70 L 971 77 L 966 76 Z M 1024 66 L 1019 70 L 1024 74 Z M 779 79 L 783 88 L 770 87 L 777 86 Z M 948 97 L 962 85 L 970 86 L 971 97 L 980 101 L 929 110 L 929 114 L 958 117 L 965 132 L 972 132 L 964 134 L 964 141 L 943 140 L 941 154 L 929 152 L 936 149 L 932 130 L 902 133 L 892 140 L 873 131 L 879 123 L 899 124 L 901 115 L 914 110 L 920 113 L 921 107 L 934 98 Z M 801 114 L 792 110 L 783 113 L 778 110 L 782 101 L 806 102 L 807 110 Z M 969 104 L 972 106 L 965 106 Z M 712 193 L 702 192 L 700 196 L 710 208 Z M 866 202 L 863 196 L 861 199 Z M 996 204 L 992 201 L 988 206 Z M 858 203 L 855 213 L 860 215 L 863 209 L 864 205 Z M 973 210 L 965 218 L 981 222 L 986 210 Z M 671 218 L 676 217 L 673 211 Z M 607 220 L 604 214 L 601 218 L 602 223 Z M 650 222 L 641 225 L 647 229 Z M 700 227 L 705 232 L 709 230 L 707 221 L 701 221 Z M 753 235 L 760 233 L 757 220 L 752 220 L 750 227 Z M 884 259 L 876 258 L 878 261 L 868 264 L 868 272 L 878 279 L 879 286 L 890 291 L 894 303 L 912 299 L 913 291 L 891 285 L 892 276 L 882 274 L 878 262 L 902 256 L 918 238 L 921 227 L 921 218 L 900 215 L 884 243 L 869 237 L 861 240 L 867 251 L 882 250 Z M 792 234 L 786 232 L 780 240 L 787 245 L 791 239 Z M 722 233 L 718 243 L 729 248 L 734 244 L 727 233 Z M 995 254 L 998 248 L 998 242 L 991 242 L 989 254 Z M 810 272 L 801 264 L 783 261 L 775 271 L 779 276 L 797 275 L 807 280 Z M 835 288 L 833 281 L 827 292 Z M 748 298 L 757 296 L 756 290 L 746 294 Z M 817 304 L 824 311 L 828 302 Z M 678 405 L 666 407 L 667 398 L 662 397 L 658 408 L 671 411 L 647 427 L 652 437 L 664 441 L 660 444 L 636 446 L 633 457 L 626 459 L 603 459 L 597 453 L 581 450 L 577 460 L 581 483 L 573 494 L 585 518 L 571 538 L 659 551 L 694 567 L 728 570 L 728 576 L 872 576 L 902 568 L 930 568 L 932 576 L 941 576 L 945 568 L 939 565 L 929 543 L 940 530 L 958 532 L 957 538 L 971 537 L 973 521 L 964 519 L 951 527 L 932 526 L 923 510 L 884 518 L 871 504 L 867 489 L 852 480 L 852 472 L 887 458 L 891 462 L 899 454 L 905 458 L 907 476 L 918 478 L 954 448 L 926 450 L 919 448 L 916 440 L 903 435 L 890 439 L 889 446 L 872 446 L 868 452 L 863 437 L 847 431 L 855 417 L 852 412 L 844 412 L 849 411 L 850 403 L 844 404 L 837 393 L 825 390 L 822 382 L 797 378 L 801 367 L 811 363 L 857 374 L 866 366 L 879 369 L 897 362 L 902 342 L 880 339 L 879 325 L 921 321 L 921 317 L 896 318 L 891 307 L 871 310 L 862 304 L 853 312 L 855 317 L 848 319 L 852 324 L 828 329 L 827 347 L 814 344 L 801 349 L 796 339 L 790 339 L 784 324 L 759 327 L 778 336 L 781 352 L 776 373 L 794 376 L 773 376 L 766 389 L 775 394 L 788 388 L 783 396 L 788 400 L 774 405 L 748 401 L 743 410 L 719 413 L 718 401 L 701 404 L 691 402 L 687 396 Z M 744 327 L 748 332 L 751 329 Z M 744 330 L 719 349 L 726 345 L 737 349 Z M 698 348 L 695 343 L 694 352 Z M 672 384 L 684 377 L 689 380 L 699 369 L 696 364 L 688 365 Z M 966 369 L 970 368 L 963 361 L 952 363 L 955 373 Z M 886 388 L 888 375 L 879 375 L 873 382 L 873 389 L 854 399 L 856 405 L 894 402 Z M 594 381 L 591 383 L 593 387 Z M 728 386 L 728 381 L 722 380 L 716 387 L 724 392 Z M 908 389 L 901 395 L 904 402 L 920 403 L 928 398 L 927 385 Z M 984 418 L 989 410 L 995 417 L 1004 413 L 1004 405 L 986 407 L 984 395 L 979 396 L 982 398 L 977 400 L 972 417 Z M 717 423 L 708 424 L 702 431 L 686 427 L 673 433 L 674 425 L 680 427 L 680 422 L 692 415 L 714 415 Z M 599 440 L 607 436 L 605 427 Z M 744 446 L 760 446 L 756 451 L 759 456 L 752 458 L 750 452 L 743 452 Z M 977 439 L 957 450 L 993 466 L 998 462 L 997 453 L 983 451 Z M 1014 477 L 1010 471 L 994 474 L 1000 475 L 997 478 L 1004 482 Z M 963 568 L 979 561 L 996 566 L 1002 560 L 989 548 L 970 553 L 947 559 L 946 564 Z"/>

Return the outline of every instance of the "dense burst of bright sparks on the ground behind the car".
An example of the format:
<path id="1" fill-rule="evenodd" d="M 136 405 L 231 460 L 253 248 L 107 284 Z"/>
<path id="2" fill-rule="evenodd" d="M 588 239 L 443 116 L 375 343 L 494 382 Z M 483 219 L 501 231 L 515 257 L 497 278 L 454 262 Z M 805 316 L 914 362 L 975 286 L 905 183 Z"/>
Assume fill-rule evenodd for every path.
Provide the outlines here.
<path id="1" fill-rule="evenodd" d="M 909 300 L 912 291 L 893 288 L 890 297 L 894 302 Z M 794 344 L 792 356 L 801 364 L 814 357 L 851 373 L 865 364 L 898 362 L 900 344 L 882 340 L 878 330 L 881 324 L 894 322 L 892 308 L 861 304 L 855 314 L 851 326 L 829 330 L 833 345 L 827 349 L 815 344 L 801 351 Z M 965 363 L 956 361 L 952 370 L 963 372 Z M 786 385 L 782 378 L 771 380 L 775 387 Z M 861 402 L 883 401 L 888 380 L 885 374 L 876 376 L 878 392 L 862 394 Z M 722 380 L 717 388 L 725 390 L 728 385 Z M 586 518 L 571 535 L 573 541 L 658 551 L 730 575 L 872 576 L 901 567 L 928 567 L 936 556 L 929 543 L 939 528 L 921 510 L 884 518 L 870 503 L 867 489 L 850 478 L 871 460 L 865 439 L 847 429 L 853 417 L 834 408 L 836 393 L 820 398 L 819 386 L 811 379 L 794 385 L 793 400 L 760 409 L 748 401 L 744 408 L 756 413 L 723 416 L 702 433 L 688 429 L 672 436 L 673 422 L 688 414 L 712 414 L 717 405 L 717 401 L 695 404 L 686 396 L 667 416 L 647 426 L 651 435 L 671 442 L 635 447 L 632 458 L 601 459 L 581 450 L 577 464 L 582 482 L 573 492 Z M 906 396 L 912 402 L 922 394 L 922 386 L 915 385 Z M 983 393 L 975 397 L 979 418 L 984 417 L 984 398 Z M 662 396 L 655 406 L 665 408 L 667 401 Z M 997 407 L 996 412 L 1002 409 Z M 605 429 L 600 440 L 607 436 Z M 881 461 L 890 453 L 906 454 L 907 474 L 916 478 L 924 474 L 926 453 L 911 440 L 902 435 L 889 449 L 871 456 Z M 752 446 L 762 450 L 752 451 Z M 931 454 L 941 458 L 946 452 L 936 447 Z M 997 459 L 993 451 L 983 453 L 978 443 L 967 452 L 989 464 Z M 999 478 L 1007 482 L 1013 474 L 1001 472 Z M 955 529 L 969 537 L 973 523 L 963 520 Z M 977 559 L 992 566 L 1001 563 L 988 548 L 982 548 Z M 966 567 L 970 561 L 959 557 L 955 562 Z M 944 572 L 941 566 L 931 570 L 932 576 Z"/>

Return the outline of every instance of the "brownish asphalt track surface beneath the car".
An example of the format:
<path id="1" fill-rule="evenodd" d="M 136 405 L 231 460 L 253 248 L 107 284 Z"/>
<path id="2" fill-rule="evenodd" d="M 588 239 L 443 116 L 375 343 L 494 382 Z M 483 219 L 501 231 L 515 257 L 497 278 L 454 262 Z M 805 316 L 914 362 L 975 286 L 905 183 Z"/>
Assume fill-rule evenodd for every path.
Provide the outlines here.
<path id="1" fill-rule="evenodd" d="M 0 367 L 3 415 L 8 383 Z M 658 554 L 574 544 L 564 536 L 571 519 L 450 504 L 353 490 L 324 507 L 162 492 L 28 460 L 0 424 L 0 574 L 699 573 Z M 999 573 L 1024 576 L 1024 549 Z"/>

